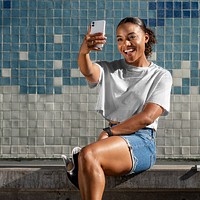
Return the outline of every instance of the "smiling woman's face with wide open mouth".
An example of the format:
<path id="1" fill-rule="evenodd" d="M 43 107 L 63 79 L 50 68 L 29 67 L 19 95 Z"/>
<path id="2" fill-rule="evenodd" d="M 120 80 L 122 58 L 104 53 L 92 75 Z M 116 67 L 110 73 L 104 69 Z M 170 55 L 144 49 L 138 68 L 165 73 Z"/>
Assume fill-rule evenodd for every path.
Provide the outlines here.
<path id="1" fill-rule="evenodd" d="M 149 36 L 140 26 L 127 22 L 117 28 L 117 45 L 126 62 L 134 66 L 146 64 L 145 43 Z"/>

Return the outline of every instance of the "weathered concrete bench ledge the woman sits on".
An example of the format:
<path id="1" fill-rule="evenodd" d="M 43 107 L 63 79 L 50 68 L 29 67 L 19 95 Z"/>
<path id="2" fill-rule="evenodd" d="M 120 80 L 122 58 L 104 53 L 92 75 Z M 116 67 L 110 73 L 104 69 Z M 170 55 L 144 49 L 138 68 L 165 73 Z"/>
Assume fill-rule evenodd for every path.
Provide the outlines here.
<path id="1" fill-rule="evenodd" d="M 1 200 L 80 200 L 60 163 L 0 163 Z M 198 200 L 200 172 L 194 164 L 156 164 L 136 176 L 107 177 L 103 199 Z"/>

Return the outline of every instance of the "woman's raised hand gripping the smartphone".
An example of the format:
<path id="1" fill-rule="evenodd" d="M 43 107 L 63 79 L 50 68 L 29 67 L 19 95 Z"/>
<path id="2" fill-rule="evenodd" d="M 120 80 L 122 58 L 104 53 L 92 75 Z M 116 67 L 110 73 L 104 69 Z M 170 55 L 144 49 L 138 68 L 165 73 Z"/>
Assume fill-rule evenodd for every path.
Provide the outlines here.
<path id="1" fill-rule="evenodd" d="M 88 28 L 88 32 L 84 37 L 83 43 L 80 47 L 80 53 L 81 54 L 88 54 L 90 51 L 101 51 L 102 49 L 97 47 L 97 44 L 105 44 L 106 43 L 106 37 L 103 35 L 103 33 L 95 33 L 90 34 L 91 27 Z"/>

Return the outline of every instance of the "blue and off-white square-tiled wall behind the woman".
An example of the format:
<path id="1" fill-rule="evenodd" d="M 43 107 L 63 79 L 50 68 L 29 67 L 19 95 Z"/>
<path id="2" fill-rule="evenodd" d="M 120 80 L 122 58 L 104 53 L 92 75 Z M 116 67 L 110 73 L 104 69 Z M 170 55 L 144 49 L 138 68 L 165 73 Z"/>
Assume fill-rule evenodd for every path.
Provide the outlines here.
<path id="1" fill-rule="evenodd" d="M 156 33 L 152 60 L 173 76 L 171 113 L 157 133 L 160 158 L 198 158 L 200 2 L 160 0 L 0 0 L 0 157 L 54 158 L 95 141 L 94 112 L 77 66 L 91 20 L 107 21 L 107 45 L 92 59 L 120 58 L 115 28 L 138 16 Z"/>

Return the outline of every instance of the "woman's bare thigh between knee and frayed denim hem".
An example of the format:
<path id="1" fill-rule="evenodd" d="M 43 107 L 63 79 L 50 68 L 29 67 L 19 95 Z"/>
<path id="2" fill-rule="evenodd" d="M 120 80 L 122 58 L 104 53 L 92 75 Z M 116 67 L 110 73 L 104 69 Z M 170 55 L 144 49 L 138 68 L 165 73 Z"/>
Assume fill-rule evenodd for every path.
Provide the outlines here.
<path id="1" fill-rule="evenodd" d="M 128 173 L 132 169 L 132 158 L 126 141 L 113 136 L 99 140 L 86 147 L 102 166 L 105 175 L 115 176 Z"/>

